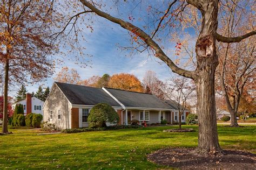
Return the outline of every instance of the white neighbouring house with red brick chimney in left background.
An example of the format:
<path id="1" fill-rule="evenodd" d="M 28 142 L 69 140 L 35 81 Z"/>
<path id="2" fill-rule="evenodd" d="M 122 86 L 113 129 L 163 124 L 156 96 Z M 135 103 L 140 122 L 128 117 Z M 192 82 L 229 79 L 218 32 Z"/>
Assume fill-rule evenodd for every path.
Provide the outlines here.
<path id="1" fill-rule="evenodd" d="M 31 94 L 26 94 L 26 98 L 22 101 L 12 104 L 12 109 L 15 109 L 16 104 L 22 104 L 24 109 L 24 115 L 35 113 L 43 115 L 43 105 L 44 101 L 39 98 L 32 97 Z"/>

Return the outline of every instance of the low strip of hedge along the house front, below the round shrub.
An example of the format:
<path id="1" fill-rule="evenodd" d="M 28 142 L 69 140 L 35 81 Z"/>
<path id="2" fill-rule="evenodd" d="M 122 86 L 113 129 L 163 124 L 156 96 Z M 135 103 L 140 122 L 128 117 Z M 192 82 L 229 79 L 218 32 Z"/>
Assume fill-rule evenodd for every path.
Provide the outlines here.
<path id="1" fill-rule="evenodd" d="M 118 129 L 138 129 L 142 126 L 139 125 L 118 125 L 118 126 L 106 126 L 104 128 L 77 128 L 77 129 L 64 129 L 63 133 L 79 133 L 79 132 L 93 132 L 93 131 L 107 131 Z"/>

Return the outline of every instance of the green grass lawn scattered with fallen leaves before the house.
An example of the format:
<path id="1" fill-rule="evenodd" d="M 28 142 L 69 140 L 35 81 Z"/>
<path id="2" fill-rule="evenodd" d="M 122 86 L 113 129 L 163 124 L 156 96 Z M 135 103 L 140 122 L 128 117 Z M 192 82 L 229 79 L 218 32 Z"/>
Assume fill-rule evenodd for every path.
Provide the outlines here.
<path id="1" fill-rule="evenodd" d="M 37 131 L 10 129 L 0 136 L 0 169 L 3 168 L 157 168 L 146 154 L 162 147 L 195 147 L 198 132 L 166 133 L 165 126 L 38 136 Z M 194 128 L 197 126 L 183 126 Z M 1 129 L 1 127 L 0 127 Z M 256 126 L 218 126 L 223 148 L 256 152 Z"/>

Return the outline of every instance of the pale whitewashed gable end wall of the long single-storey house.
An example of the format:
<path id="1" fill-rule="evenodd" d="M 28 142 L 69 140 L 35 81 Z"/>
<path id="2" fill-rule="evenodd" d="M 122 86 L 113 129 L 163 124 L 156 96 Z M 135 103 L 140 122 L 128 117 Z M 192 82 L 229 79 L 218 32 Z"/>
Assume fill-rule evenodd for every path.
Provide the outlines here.
<path id="1" fill-rule="evenodd" d="M 60 119 L 58 119 L 58 110 L 60 110 Z M 53 113 L 50 119 L 50 111 Z M 58 129 L 71 128 L 71 104 L 65 95 L 60 91 L 56 84 L 53 85 L 51 93 L 45 101 L 43 108 L 43 120 L 54 123 Z"/>

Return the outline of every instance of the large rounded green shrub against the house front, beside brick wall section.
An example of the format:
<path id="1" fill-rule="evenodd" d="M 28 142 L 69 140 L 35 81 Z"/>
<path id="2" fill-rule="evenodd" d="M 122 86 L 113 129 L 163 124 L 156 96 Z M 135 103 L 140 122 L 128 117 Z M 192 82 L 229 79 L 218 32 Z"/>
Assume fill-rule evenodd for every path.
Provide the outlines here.
<path id="1" fill-rule="evenodd" d="M 106 123 L 118 123 L 119 116 L 109 104 L 99 103 L 91 109 L 88 122 L 90 128 L 102 128 Z"/>

